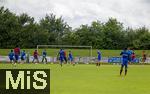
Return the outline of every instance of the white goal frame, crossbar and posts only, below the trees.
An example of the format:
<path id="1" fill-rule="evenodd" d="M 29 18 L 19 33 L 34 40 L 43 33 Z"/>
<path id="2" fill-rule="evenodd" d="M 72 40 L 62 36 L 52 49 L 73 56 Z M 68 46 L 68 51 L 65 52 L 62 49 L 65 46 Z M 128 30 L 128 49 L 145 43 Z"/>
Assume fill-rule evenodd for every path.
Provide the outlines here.
<path id="1" fill-rule="evenodd" d="M 40 48 L 74 48 L 74 49 L 89 49 L 90 58 L 92 58 L 92 46 L 72 46 L 72 45 L 37 45 L 37 51 Z"/>

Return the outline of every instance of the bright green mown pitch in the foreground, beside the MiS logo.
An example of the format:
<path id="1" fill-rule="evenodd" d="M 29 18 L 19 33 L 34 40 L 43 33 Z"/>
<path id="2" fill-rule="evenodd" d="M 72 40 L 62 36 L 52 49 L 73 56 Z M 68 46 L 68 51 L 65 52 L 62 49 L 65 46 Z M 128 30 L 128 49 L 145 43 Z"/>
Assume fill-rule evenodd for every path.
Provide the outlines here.
<path id="1" fill-rule="evenodd" d="M 2 68 L 14 68 L 0 64 Z M 119 76 L 119 65 L 17 64 L 15 68 L 51 69 L 51 94 L 150 94 L 150 66 L 129 65 L 128 75 Z"/>

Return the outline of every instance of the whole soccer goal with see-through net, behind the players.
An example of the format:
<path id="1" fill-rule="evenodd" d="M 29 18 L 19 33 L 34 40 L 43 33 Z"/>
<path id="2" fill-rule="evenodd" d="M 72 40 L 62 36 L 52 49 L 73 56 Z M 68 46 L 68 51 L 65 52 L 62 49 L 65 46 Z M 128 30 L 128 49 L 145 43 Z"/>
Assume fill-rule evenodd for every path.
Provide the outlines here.
<path id="1" fill-rule="evenodd" d="M 42 53 L 43 50 L 47 51 L 49 62 L 58 62 L 57 56 L 63 49 L 68 57 L 69 51 L 72 52 L 74 62 L 89 63 L 92 58 L 92 46 L 72 46 L 72 45 L 37 45 L 37 51 Z"/>

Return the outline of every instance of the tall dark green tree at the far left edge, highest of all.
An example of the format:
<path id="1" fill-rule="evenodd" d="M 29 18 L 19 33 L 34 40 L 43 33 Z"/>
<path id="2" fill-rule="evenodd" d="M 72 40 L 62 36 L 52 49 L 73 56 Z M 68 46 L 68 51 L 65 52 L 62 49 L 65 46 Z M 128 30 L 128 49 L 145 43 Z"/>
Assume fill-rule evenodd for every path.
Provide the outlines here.
<path id="1" fill-rule="evenodd" d="M 12 35 L 17 31 L 17 17 L 4 7 L 0 8 L 0 47 L 12 47 L 14 41 L 11 40 Z"/>

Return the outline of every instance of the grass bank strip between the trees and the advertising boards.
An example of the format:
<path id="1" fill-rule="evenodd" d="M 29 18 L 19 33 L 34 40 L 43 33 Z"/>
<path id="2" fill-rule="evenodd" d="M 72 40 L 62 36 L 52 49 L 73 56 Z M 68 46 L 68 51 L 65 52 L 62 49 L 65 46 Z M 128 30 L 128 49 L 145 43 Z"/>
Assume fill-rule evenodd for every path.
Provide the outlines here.
<path id="1" fill-rule="evenodd" d="M 34 52 L 34 49 L 24 49 L 27 52 L 29 51 L 32 55 Z M 39 49 L 39 54 L 42 53 L 43 49 Z M 72 51 L 74 56 L 90 56 L 90 51 L 88 49 L 65 49 L 67 52 L 69 50 Z M 48 56 L 56 56 L 59 49 L 47 49 Z M 103 57 L 111 57 L 111 56 L 119 56 L 121 50 L 100 50 Z M 0 49 L 0 55 L 8 55 L 10 52 L 10 49 Z M 93 49 L 93 56 L 97 56 L 97 50 Z M 142 56 L 142 50 L 135 50 L 135 53 L 137 57 Z M 150 50 L 146 50 L 147 54 L 150 54 Z"/>

